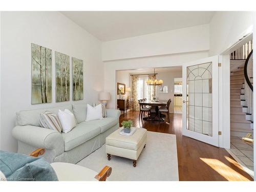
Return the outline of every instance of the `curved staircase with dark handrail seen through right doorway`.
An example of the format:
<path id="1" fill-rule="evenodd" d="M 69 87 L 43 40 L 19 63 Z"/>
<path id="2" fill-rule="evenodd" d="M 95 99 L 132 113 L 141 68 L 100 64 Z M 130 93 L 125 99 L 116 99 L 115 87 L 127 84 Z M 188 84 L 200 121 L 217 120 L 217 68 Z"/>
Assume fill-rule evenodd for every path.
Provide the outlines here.
<path id="1" fill-rule="evenodd" d="M 230 60 L 231 136 L 244 137 L 247 133 L 253 134 L 253 92 L 248 85 L 252 86 L 253 83 L 252 56 L 247 60 L 249 59 L 251 61 L 247 61 L 249 64 L 246 66 L 246 59 Z"/>

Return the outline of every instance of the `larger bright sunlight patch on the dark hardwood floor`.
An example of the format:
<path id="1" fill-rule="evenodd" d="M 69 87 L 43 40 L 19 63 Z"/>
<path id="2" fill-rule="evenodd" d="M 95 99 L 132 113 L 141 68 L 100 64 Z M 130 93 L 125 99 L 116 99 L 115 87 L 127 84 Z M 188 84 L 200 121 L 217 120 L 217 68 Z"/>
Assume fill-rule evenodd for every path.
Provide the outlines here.
<path id="1" fill-rule="evenodd" d="M 228 181 L 249 181 L 249 179 L 242 176 L 241 174 L 239 174 L 234 169 L 230 168 L 220 160 L 208 158 L 200 159 Z"/>

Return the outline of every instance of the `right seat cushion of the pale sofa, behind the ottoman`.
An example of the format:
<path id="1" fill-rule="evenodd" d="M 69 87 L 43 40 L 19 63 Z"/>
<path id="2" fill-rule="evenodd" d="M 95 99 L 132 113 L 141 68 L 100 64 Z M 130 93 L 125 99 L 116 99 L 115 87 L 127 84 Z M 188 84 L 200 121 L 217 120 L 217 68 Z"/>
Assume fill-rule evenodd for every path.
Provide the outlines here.
<path id="1" fill-rule="evenodd" d="M 105 132 L 106 130 L 110 129 L 112 126 L 116 125 L 118 123 L 118 119 L 114 117 L 105 117 L 103 119 L 98 120 L 91 120 L 91 121 L 85 121 L 84 124 L 96 124 L 100 126 L 100 133 Z"/>

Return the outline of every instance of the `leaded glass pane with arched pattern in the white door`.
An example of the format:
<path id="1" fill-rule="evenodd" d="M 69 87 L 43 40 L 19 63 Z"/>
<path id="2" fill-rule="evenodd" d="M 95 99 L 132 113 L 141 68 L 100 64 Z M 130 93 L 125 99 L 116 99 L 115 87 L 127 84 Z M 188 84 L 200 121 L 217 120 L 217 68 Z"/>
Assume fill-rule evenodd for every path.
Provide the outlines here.
<path id="1" fill-rule="evenodd" d="M 212 136 L 212 62 L 187 67 L 187 129 Z"/>

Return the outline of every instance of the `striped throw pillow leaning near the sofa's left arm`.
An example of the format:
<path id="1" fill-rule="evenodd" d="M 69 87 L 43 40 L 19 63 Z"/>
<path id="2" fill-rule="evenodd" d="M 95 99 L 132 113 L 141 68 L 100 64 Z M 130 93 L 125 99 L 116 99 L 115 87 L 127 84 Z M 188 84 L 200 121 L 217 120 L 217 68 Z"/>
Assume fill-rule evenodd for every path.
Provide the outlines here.
<path id="1" fill-rule="evenodd" d="M 58 116 L 49 111 L 40 113 L 39 124 L 41 127 L 51 129 L 59 133 L 62 131 Z"/>

